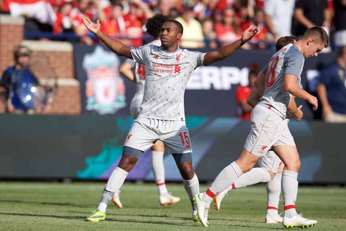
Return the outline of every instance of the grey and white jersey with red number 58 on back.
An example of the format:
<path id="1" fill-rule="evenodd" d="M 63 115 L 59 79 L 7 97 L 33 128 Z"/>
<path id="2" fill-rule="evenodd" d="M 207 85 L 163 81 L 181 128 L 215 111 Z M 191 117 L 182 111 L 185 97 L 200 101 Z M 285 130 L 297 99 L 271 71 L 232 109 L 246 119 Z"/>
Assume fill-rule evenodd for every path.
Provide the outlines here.
<path id="1" fill-rule="evenodd" d="M 301 72 L 304 66 L 304 56 L 297 46 L 292 43 L 284 46 L 270 59 L 269 64 L 262 70 L 265 73 L 265 88 L 260 104 L 286 117 L 286 110 L 292 95 L 283 87 L 284 75 L 291 74 L 298 78 L 300 84 Z"/>

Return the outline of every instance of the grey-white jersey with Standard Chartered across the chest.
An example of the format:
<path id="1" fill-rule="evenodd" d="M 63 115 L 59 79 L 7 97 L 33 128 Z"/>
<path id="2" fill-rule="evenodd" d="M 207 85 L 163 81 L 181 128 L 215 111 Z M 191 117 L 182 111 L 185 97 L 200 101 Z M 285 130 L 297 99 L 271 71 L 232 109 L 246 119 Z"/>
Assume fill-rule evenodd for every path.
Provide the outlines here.
<path id="1" fill-rule="evenodd" d="M 137 63 L 145 65 L 144 96 L 138 117 L 185 120 L 184 93 L 193 70 L 203 65 L 206 53 L 162 46 L 131 47 Z"/>

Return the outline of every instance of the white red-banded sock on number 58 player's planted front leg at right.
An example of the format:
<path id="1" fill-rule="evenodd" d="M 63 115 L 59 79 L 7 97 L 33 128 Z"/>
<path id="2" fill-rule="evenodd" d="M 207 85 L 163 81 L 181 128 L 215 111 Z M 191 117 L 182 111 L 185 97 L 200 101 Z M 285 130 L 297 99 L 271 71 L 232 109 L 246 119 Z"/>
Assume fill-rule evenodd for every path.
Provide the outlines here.
<path id="1" fill-rule="evenodd" d="M 282 172 L 281 188 L 282 197 L 285 210 L 285 217 L 291 218 L 297 215 L 295 211 L 295 201 L 297 200 L 298 193 L 298 173 L 293 171 L 284 170 Z"/>

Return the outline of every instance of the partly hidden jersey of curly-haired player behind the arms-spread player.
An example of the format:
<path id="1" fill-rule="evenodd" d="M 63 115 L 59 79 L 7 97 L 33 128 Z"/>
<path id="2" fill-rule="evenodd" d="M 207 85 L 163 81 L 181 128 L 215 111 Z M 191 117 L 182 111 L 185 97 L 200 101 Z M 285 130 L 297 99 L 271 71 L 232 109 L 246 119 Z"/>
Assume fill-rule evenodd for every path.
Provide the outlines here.
<path id="1" fill-rule="evenodd" d="M 156 39 L 148 45 L 161 46 L 160 39 Z M 140 63 L 136 63 L 133 59 L 126 59 L 127 63 L 129 63 L 132 67 L 135 68 L 135 78 L 136 78 L 136 92 L 131 100 L 130 108 L 139 108 L 140 104 L 143 101 L 144 94 L 144 84 L 145 84 L 145 66 Z"/>

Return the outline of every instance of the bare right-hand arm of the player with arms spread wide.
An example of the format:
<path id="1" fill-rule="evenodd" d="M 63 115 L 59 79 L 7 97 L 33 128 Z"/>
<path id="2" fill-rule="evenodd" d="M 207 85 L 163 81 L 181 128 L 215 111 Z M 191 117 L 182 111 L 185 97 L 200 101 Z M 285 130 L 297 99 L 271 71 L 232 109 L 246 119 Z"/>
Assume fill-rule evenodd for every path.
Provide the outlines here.
<path id="1" fill-rule="evenodd" d="M 208 52 L 206 56 L 204 56 L 203 65 L 208 66 L 212 63 L 215 63 L 217 61 L 221 61 L 227 58 L 228 56 L 233 54 L 237 49 L 243 46 L 247 41 L 252 39 L 257 33 L 257 31 L 258 31 L 257 27 L 252 30 L 252 26 L 250 26 L 243 32 L 242 38 L 240 38 L 239 40 L 227 46 L 223 46 L 216 51 Z"/>

